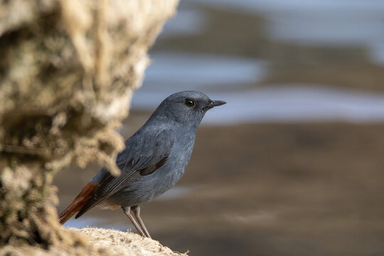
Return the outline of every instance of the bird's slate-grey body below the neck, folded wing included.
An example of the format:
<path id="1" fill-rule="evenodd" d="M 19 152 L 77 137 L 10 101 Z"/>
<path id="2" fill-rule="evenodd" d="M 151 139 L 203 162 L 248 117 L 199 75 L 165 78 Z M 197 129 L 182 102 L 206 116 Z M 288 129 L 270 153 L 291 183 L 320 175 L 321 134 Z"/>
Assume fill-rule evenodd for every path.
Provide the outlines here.
<path id="1" fill-rule="evenodd" d="M 194 129 L 149 119 L 117 156 L 122 174 L 114 177 L 105 170 L 97 174 L 100 183 L 77 217 L 96 205 L 134 206 L 169 190 L 183 176 L 195 137 Z M 146 169 L 149 173 L 143 174 Z"/>

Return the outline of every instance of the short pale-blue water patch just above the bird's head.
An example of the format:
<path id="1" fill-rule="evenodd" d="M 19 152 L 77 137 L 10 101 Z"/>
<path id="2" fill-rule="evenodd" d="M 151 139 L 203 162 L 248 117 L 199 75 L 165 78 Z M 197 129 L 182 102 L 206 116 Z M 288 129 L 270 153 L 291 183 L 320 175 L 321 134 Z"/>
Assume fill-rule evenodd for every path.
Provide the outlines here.
<path id="1" fill-rule="evenodd" d="M 140 91 L 209 90 L 210 86 L 257 82 L 267 72 L 262 60 L 203 53 L 158 52 L 151 54 L 152 64 L 145 72 Z"/>

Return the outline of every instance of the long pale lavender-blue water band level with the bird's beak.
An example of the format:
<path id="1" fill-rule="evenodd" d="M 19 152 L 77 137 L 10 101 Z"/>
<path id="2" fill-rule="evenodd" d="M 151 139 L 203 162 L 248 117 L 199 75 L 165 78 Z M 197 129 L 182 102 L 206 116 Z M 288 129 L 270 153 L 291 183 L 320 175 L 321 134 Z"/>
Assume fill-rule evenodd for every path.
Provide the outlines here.
<path id="1" fill-rule="evenodd" d="M 209 92 L 209 87 L 205 89 Z M 162 92 L 139 90 L 132 99 L 132 108 L 153 110 L 171 92 L 171 88 Z M 275 85 L 208 95 L 227 104 L 207 112 L 203 124 L 384 122 L 384 95 L 373 92 L 320 85 Z"/>

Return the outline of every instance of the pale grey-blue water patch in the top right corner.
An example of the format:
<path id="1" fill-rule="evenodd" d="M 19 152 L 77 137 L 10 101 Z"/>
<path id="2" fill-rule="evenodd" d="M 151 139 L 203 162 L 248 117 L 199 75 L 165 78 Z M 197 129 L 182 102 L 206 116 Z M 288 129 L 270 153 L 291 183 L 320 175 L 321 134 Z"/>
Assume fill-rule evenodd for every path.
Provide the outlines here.
<path id="1" fill-rule="evenodd" d="M 270 38 L 318 46 L 363 46 L 384 65 L 384 1 L 196 0 L 265 16 Z"/>

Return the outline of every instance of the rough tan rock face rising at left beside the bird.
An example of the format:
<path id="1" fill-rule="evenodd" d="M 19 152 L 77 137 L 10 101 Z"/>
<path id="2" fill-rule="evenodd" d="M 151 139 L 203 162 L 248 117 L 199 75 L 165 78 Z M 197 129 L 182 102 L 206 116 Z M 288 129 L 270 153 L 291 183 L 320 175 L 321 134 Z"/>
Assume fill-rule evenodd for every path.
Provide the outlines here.
<path id="1" fill-rule="evenodd" d="M 0 3 L 0 245 L 80 253 L 58 225 L 51 180 L 68 164 L 114 166 L 114 129 L 177 0 Z M 38 250 L 38 249 L 36 249 Z M 16 253 L 16 252 L 15 252 Z"/>

